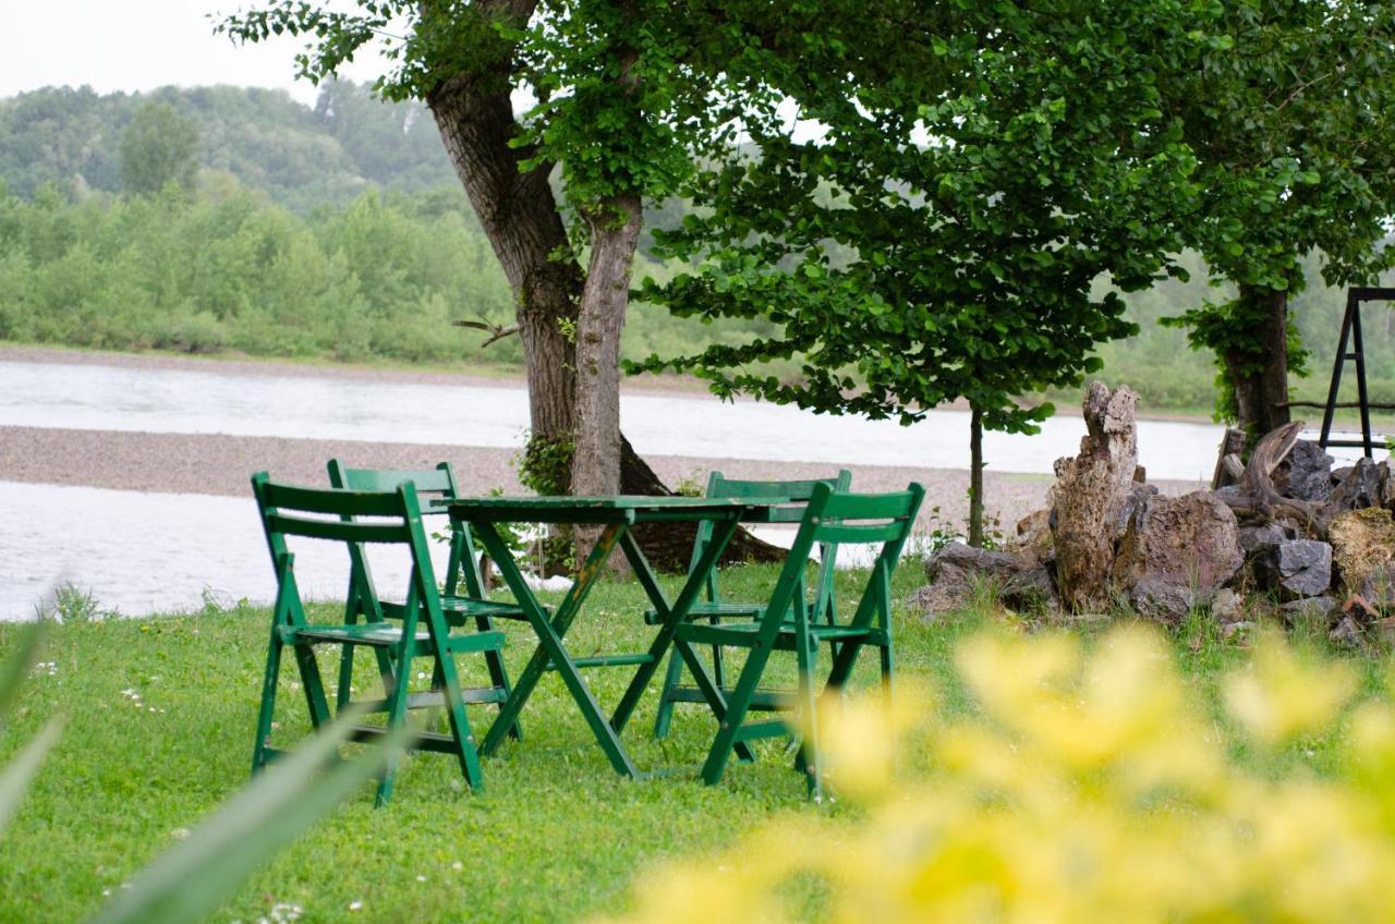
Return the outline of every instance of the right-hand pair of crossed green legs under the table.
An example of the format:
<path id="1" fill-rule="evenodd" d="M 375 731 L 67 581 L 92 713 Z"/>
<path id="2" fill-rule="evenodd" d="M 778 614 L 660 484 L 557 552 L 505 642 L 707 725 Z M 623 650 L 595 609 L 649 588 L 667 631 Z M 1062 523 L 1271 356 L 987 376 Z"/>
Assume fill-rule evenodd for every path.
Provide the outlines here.
<path id="1" fill-rule="evenodd" d="M 731 537 L 735 535 L 738 526 L 739 522 L 737 519 L 718 521 L 713 525 L 711 540 L 703 550 L 698 564 L 693 568 L 689 568 L 688 581 L 678 592 L 678 597 L 672 604 L 670 604 L 668 599 L 664 596 L 664 589 L 658 586 L 658 581 L 654 578 L 654 572 L 649 567 L 649 560 L 644 558 L 644 553 L 640 551 L 635 539 L 629 533 L 625 533 L 621 537 L 621 549 L 625 551 L 625 557 L 629 560 L 631 568 L 635 569 L 635 576 L 639 579 L 640 586 L 644 588 L 644 593 L 649 595 L 654 609 L 658 610 L 663 617 L 663 623 L 660 624 L 658 635 L 654 636 L 654 642 L 649 648 L 650 660 L 640 664 L 639 670 L 635 671 L 635 678 L 629 683 L 629 688 L 625 690 L 625 695 L 621 698 L 619 705 L 615 706 L 615 715 L 611 716 L 611 727 L 617 734 L 621 733 L 625 729 L 625 723 L 629 722 L 631 715 L 635 712 L 635 706 L 639 705 L 640 696 L 644 695 L 646 687 L 649 687 L 650 680 L 653 680 L 654 671 L 657 671 L 658 664 L 663 663 L 670 645 L 678 650 L 678 655 L 688 664 L 688 670 L 692 671 L 698 690 L 702 692 L 703 699 L 707 701 L 713 715 L 717 716 L 717 722 L 721 722 L 727 715 L 727 701 L 721 695 L 721 690 L 707 673 L 707 666 L 702 663 L 702 659 L 698 657 L 696 652 L 692 650 L 692 646 L 688 645 L 688 642 L 677 638 L 677 632 L 678 624 L 688 617 L 688 610 L 692 609 L 698 596 L 702 593 L 707 581 L 707 574 L 717 567 L 721 553 L 727 549 L 727 543 L 731 542 Z M 738 743 L 737 750 L 738 757 L 742 759 L 752 759 L 751 750 L 744 741 Z"/>

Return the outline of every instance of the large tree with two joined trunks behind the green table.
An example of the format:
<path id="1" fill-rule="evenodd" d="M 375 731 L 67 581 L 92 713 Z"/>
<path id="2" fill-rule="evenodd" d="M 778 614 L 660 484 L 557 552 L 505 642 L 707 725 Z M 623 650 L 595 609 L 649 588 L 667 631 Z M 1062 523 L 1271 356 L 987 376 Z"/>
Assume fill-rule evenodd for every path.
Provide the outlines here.
<path id="1" fill-rule="evenodd" d="M 343 13 L 280 0 L 218 28 L 247 42 L 306 38 L 299 67 L 312 81 L 382 46 L 393 68 L 377 92 L 430 106 L 513 290 L 526 472 L 544 491 L 611 494 L 660 487 L 619 433 L 619 335 L 643 204 L 677 190 L 699 144 L 730 142 L 737 109 L 774 105 L 762 81 L 728 80 L 725 66 L 762 36 L 798 35 L 817 6 L 359 0 Z M 525 114 L 519 92 L 536 102 Z"/>

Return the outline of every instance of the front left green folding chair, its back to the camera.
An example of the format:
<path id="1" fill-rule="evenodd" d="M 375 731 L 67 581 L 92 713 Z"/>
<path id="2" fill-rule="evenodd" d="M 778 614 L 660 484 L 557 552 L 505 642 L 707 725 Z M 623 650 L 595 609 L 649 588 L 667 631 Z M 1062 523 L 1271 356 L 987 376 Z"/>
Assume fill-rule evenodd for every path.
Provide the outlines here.
<path id="1" fill-rule="evenodd" d="M 413 736 L 409 747 L 453 754 L 460 762 L 466 783 L 474 789 L 481 787 L 484 777 L 465 706 L 467 702 L 499 702 L 499 691 L 462 690 L 455 656 L 498 652 L 504 648 L 504 634 L 477 631 L 451 634 L 441 609 L 441 596 L 413 484 L 400 484 L 393 491 L 326 490 L 278 484 L 265 472 L 259 472 L 252 476 L 252 493 L 257 497 L 276 571 L 276 603 L 272 609 L 266 674 L 257 716 L 252 772 L 258 772 L 269 759 L 283 752 L 271 747 L 271 731 L 280 660 L 286 648 L 292 649 L 300 670 L 311 724 L 318 729 L 331 720 L 314 652 L 317 645 L 329 643 L 367 646 L 388 655 L 385 660 L 389 669 L 384 671 L 386 698 L 357 703 L 370 712 L 385 712 L 386 727 L 359 726 L 354 729 L 354 740 L 368 740 L 402 726 L 409 708 L 444 706 L 451 733 L 420 731 Z M 364 569 L 350 592 L 361 595 L 364 611 L 381 614 L 382 620 L 342 625 L 310 623 L 296 583 L 296 557 L 286 544 L 289 536 L 345 543 L 350 550 L 350 558 L 354 550 L 361 554 L 364 543 L 406 547 L 412 557 L 412 574 L 405 602 L 391 603 L 379 599 L 371 575 Z M 410 692 L 412 662 L 417 657 L 430 657 L 432 662 L 431 692 Z M 384 769 L 378 783 L 379 805 L 392 797 L 396 763 L 396 759 L 389 761 Z"/>

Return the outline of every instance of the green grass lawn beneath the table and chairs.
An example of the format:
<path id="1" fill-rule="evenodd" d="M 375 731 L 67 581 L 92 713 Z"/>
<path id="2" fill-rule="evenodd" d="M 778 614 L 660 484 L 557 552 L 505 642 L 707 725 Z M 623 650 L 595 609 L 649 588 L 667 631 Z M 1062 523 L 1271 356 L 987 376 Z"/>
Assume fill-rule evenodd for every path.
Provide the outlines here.
<path id="1" fill-rule="evenodd" d="M 918 582 L 918 571 L 901 569 L 897 599 Z M 771 568 L 735 569 L 728 589 L 745 596 L 742 588 L 753 593 L 773 576 Z M 851 595 L 857 575 L 840 581 L 847 582 L 840 595 Z M 568 639 L 571 650 L 639 649 L 651 631 L 642 609 L 635 586 L 600 585 Z M 944 691 L 949 712 L 974 708 L 954 683 L 951 652 L 983 623 L 1003 621 L 988 613 L 900 623 L 901 674 L 930 680 Z M 0 736 L 0 765 L 49 716 L 61 713 L 67 724 L 0 840 L 0 921 L 91 914 L 105 893 L 247 782 L 266 621 L 265 609 L 240 607 L 70 623 L 50 632 L 46 664 L 35 670 L 17 722 Z M 516 673 L 533 646 L 526 627 L 508 631 Z M 0 657 L 17 632 L 0 624 Z M 1218 677 L 1244 657 L 1240 646 L 1196 627 L 1175 635 L 1175 649 L 1212 706 Z M 325 649 L 322 657 L 328 666 L 338 653 Z M 858 685 L 875 681 L 876 659 L 864 660 Z M 1375 691 L 1384 662 L 1362 660 L 1367 691 Z M 360 691 L 377 683 L 370 662 L 360 662 Z M 614 705 L 631 676 L 589 674 L 603 705 Z M 276 736 L 289 743 L 307 722 L 304 699 L 292 688 L 294 670 L 282 677 Z M 301 921 L 576 920 L 624 909 L 632 884 L 653 864 L 728 846 L 771 817 L 852 811 L 808 803 L 778 743 L 766 743 L 753 765 L 731 765 L 721 784 L 703 786 L 686 768 L 695 770 L 704 757 L 711 720 L 699 706 L 679 706 L 670 738 L 654 741 L 654 691 L 657 683 L 625 740 L 642 766 L 681 768 L 675 775 L 639 783 L 615 776 L 561 681 L 548 674 L 523 713 L 525 740 L 485 759 L 483 793 L 465 790 L 446 757 L 409 758 L 389 807 L 375 811 L 364 786 L 255 874 L 215 920 L 255 921 L 276 904 L 299 906 Z M 472 709 L 481 733 L 488 710 Z M 1332 737 L 1265 759 L 1321 772 L 1341 730 Z M 926 770 L 915 754 L 907 763 L 910 772 Z"/>

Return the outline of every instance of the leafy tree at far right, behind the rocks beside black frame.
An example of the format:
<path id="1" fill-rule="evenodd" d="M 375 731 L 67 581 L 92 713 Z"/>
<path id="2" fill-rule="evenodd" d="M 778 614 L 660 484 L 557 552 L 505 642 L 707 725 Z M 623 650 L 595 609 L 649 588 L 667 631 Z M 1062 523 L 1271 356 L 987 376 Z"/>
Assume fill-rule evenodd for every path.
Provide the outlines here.
<path id="1" fill-rule="evenodd" d="M 1395 251 L 1395 7 L 1364 0 L 1237 0 L 1215 45 L 1163 82 L 1196 152 L 1201 197 L 1183 223 L 1236 296 L 1186 313 L 1216 355 L 1221 416 L 1264 434 L 1289 422 L 1306 353 L 1289 321 L 1303 258 L 1328 285 L 1371 282 Z M 1335 332 L 1334 332 L 1335 335 Z"/>

